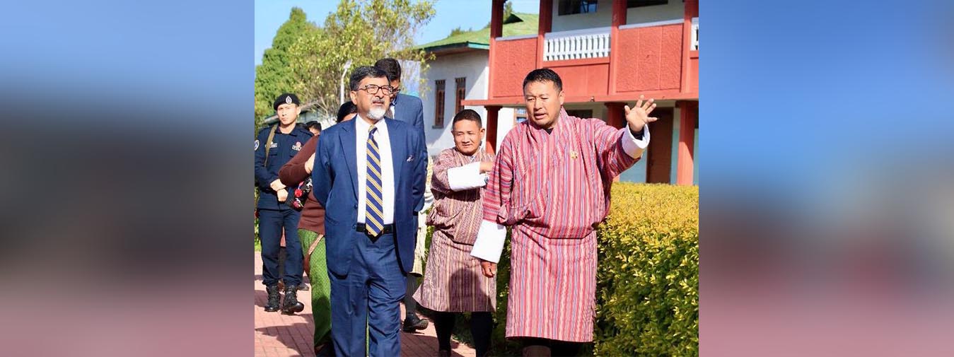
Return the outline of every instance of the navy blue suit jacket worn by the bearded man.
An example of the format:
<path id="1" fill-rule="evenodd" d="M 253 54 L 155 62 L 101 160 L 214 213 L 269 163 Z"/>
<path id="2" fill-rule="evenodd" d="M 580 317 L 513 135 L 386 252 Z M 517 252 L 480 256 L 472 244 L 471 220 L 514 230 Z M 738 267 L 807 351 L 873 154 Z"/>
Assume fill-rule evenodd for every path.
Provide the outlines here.
<path id="1" fill-rule="evenodd" d="M 312 171 L 315 199 L 324 207 L 328 270 L 347 275 L 358 222 L 358 164 L 355 117 L 321 132 Z M 410 125 L 384 118 L 394 165 L 394 229 L 398 262 L 404 272 L 414 264 L 418 211 L 424 204 L 427 158 L 424 139 Z M 379 124 L 380 125 L 380 124 Z M 363 198 L 362 198 L 363 200 Z"/>

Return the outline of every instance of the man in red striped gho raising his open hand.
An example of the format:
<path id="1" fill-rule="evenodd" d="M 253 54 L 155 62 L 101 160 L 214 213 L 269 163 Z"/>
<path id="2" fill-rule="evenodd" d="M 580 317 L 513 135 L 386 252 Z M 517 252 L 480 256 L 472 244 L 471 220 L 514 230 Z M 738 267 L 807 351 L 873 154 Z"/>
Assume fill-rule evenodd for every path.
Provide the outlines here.
<path id="1" fill-rule="evenodd" d="M 524 97 L 530 118 L 500 143 L 470 254 L 494 276 L 511 226 L 507 338 L 523 342 L 524 356 L 575 355 L 592 341 L 594 227 L 609 212 L 612 179 L 649 145 L 655 104 L 640 95 L 622 129 L 570 116 L 563 82 L 546 68 L 527 74 Z"/>

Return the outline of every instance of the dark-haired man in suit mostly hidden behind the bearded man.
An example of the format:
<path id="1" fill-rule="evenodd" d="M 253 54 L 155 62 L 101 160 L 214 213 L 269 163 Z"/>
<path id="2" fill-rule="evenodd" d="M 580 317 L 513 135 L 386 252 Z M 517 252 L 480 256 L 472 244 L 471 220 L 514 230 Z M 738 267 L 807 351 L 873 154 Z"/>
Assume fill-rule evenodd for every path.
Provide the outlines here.
<path id="1" fill-rule="evenodd" d="M 387 80 L 391 83 L 391 87 L 394 87 L 394 92 L 391 94 L 391 107 L 388 110 L 388 116 L 413 125 L 414 129 L 421 134 L 421 139 L 424 140 L 424 104 L 421 102 L 421 98 L 417 96 L 401 94 L 401 64 L 394 58 L 382 58 L 374 63 L 374 67 L 384 70 L 384 72 L 387 73 Z M 427 155 L 426 150 L 425 146 L 425 153 L 422 154 L 425 157 Z M 422 220 L 423 219 L 424 218 L 422 218 Z M 424 261 L 424 242 L 417 242 L 417 244 L 420 246 L 415 249 L 415 252 L 419 252 L 420 254 L 415 256 L 414 259 Z M 415 264 L 415 266 L 422 265 L 423 263 Z M 413 332 L 418 329 L 427 328 L 427 320 L 417 316 L 417 302 L 415 302 L 412 297 L 414 290 L 417 290 L 418 287 L 417 278 L 423 275 L 424 272 L 412 270 L 410 273 L 411 276 L 407 279 L 407 294 L 404 297 L 403 329 L 405 332 Z"/>

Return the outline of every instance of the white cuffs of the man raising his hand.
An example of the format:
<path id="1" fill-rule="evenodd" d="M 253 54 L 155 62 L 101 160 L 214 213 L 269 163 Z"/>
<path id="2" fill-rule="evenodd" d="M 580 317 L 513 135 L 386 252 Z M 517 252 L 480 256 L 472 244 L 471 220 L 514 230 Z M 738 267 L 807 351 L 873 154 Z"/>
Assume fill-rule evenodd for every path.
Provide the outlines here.
<path id="1" fill-rule="evenodd" d="M 643 139 L 637 140 L 627 125 L 620 129 L 626 131 L 620 137 L 620 144 L 623 145 L 623 152 L 630 158 L 642 157 L 643 151 L 650 146 L 650 126 L 643 125 Z M 500 255 L 504 252 L 504 241 L 507 239 L 507 227 L 497 224 L 495 221 L 481 221 L 480 230 L 477 231 L 477 241 L 470 249 L 470 256 L 477 257 L 487 262 L 499 263 Z"/>

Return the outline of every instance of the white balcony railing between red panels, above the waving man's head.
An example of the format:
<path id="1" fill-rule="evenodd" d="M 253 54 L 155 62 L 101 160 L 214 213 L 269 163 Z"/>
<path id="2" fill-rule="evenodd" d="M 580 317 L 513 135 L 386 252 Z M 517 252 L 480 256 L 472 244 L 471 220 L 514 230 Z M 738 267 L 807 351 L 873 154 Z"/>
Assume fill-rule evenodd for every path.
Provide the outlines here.
<path id="1" fill-rule="evenodd" d="M 607 57 L 610 55 L 610 28 L 547 32 L 543 60 L 560 61 Z"/>

